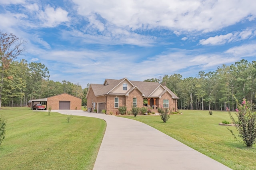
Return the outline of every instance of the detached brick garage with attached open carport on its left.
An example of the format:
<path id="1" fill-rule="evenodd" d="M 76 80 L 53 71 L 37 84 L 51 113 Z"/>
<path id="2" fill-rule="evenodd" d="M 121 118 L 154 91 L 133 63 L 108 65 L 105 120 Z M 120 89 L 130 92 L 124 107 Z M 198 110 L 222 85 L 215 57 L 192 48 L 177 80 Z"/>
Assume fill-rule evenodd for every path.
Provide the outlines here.
<path id="1" fill-rule="evenodd" d="M 44 99 L 34 99 L 31 101 L 31 108 L 36 103 L 46 102 L 47 110 L 49 109 L 49 107 L 52 107 L 52 110 L 80 110 L 82 106 L 82 99 L 67 93 L 51 96 Z"/>

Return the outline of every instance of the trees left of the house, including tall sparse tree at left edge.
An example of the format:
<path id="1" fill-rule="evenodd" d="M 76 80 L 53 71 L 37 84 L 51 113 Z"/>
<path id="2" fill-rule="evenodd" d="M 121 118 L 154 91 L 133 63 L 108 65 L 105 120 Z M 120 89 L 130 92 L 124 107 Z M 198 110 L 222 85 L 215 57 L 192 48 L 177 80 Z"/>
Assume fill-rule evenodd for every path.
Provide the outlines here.
<path id="1" fill-rule="evenodd" d="M 29 100 L 62 93 L 82 98 L 86 105 L 89 84 L 82 89 L 79 83 L 54 82 L 49 80 L 49 71 L 44 64 L 28 63 L 24 59 L 16 61 L 16 57 L 25 51 L 25 44 L 26 41 L 16 35 L 0 31 L 0 107 L 26 106 Z"/>

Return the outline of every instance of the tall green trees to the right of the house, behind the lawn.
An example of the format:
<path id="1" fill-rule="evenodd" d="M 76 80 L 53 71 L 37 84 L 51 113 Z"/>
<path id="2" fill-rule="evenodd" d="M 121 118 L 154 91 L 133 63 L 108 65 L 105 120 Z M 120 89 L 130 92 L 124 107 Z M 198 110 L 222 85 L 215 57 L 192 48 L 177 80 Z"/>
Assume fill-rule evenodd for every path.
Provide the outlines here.
<path id="1" fill-rule="evenodd" d="M 234 111 L 234 96 L 239 102 L 246 99 L 255 107 L 256 61 L 243 59 L 229 66 L 222 64 L 215 71 L 200 71 L 196 77 L 172 74 L 144 81 L 159 82 L 172 90 L 180 98 L 178 109 Z"/>

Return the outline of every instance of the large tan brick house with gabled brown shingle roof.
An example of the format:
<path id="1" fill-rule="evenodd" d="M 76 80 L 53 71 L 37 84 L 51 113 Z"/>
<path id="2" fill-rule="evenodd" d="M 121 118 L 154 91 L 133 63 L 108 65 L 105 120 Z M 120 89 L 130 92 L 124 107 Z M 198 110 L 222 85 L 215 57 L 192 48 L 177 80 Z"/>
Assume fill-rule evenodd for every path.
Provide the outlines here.
<path id="1" fill-rule="evenodd" d="M 130 81 L 127 78 L 120 80 L 106 79 L 103 84 L 90 84 L 86 94 L 87 107 L 102 109 L 106 113 L 118 113 L 118 107 L 126 106 L 127 111 L 133 106 L 143 107 L 144 100 L 148 107 L 157 112 L 157 107 L 167 107 L 177 111 L 177 100 L 179 99 L 169 88 L 157 82 Z"/>

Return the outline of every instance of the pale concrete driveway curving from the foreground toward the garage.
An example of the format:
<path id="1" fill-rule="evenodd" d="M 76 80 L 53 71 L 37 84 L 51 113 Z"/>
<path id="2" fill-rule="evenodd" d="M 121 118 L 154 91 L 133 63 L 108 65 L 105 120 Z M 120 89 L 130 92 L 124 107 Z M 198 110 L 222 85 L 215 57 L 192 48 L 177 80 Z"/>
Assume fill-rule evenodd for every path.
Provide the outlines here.
<path id="1" fill-rule="evenodd" d="M 94 170 L 231 170 L 139 121 L 81 110 L 52 111 L 106 121 Z"/>

